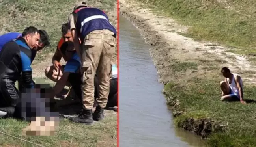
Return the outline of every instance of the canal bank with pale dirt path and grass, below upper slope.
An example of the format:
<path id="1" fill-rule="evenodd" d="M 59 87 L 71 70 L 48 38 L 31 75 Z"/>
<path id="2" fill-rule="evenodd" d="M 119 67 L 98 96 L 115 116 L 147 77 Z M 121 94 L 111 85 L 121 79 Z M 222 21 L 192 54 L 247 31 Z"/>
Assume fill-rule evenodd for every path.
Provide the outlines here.
<path id="1" fill-rule="evenodd" d="M 175 125 L 208 138 L 209 146 L 254 146 L 255 141 L 250 139 L 256 131 L 251 129 L 256 118 L 252 113 L 256 106 L 251 102 L 255 100 L 251 82 L 255 79 L 253 64 L 243 56 L 226 52 L 230 48 L 180 35 L 187 27 L 151 13 L 136 1 L 119 3 L 120 14 L 140 30 L 151 46 L 150 54 L 159 82 L 165 85 L 164 93 L 172 106 Z M 251 103 L 220 102 L 223 66 L 243 77 L 244 97 Z"/>

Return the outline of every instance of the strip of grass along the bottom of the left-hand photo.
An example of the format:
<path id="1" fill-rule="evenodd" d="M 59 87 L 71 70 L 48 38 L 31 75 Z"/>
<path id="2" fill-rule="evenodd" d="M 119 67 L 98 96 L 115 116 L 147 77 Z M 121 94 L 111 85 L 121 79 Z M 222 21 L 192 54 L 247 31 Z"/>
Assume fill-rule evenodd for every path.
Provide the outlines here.
<path id="1" fill-rule="evenodd" d="M 69 120 L 60 122 L 59 131 L 54 136 L 21 136 L 21 131 L 28 123 L 15 119 L 0 119 L 0 131 L 22 138 L 45 147 L 60 145 L 71 147 L 116 147 L 117 126 L 115 117 L 106 117 L 103 122 L 93 125 L 71 123 Z M 30 143 L 0 134 L 0 146 L 19 145 L 33 147 Z"/>

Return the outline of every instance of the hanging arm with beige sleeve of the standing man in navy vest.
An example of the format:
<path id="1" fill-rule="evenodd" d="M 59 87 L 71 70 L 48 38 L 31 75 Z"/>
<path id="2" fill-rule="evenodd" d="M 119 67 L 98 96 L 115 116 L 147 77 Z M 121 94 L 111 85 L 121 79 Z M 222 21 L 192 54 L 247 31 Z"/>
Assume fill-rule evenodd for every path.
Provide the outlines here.
<path id="1" fill-rule="evenodd" d="M 77 51 L 77 54 L 79 56 L 79 58 L 81 59 L 81 51 L 80 51 L 80 39 L 77 35 L 77 30 L 76 30 L 76 22 L 75 22 L 75 18 L 74 18 L 74 15 L 73 13 L 71 13 L 69 15 L 69 18 L 68 18 L 68 23 L 69 23 L 69 26 L 70 26 L 70 31 L 71 31 L 71 35 L 72 35 L 72 38 L 73 38 L 73 41 L 74 41 L 74 46 L 75 46 L 75 49 Z"/>

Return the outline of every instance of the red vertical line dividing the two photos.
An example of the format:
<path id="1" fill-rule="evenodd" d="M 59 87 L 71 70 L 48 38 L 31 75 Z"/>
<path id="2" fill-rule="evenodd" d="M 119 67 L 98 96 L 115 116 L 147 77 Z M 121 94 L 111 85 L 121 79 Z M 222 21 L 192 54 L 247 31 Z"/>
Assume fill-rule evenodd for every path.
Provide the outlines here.
<path id="1" fill-rule="evenodd" d="M 117 86 L 117 147 L 119 147 L 119 0 L 117 0 L 117 73 L 118 73 L 118 86 Z"/>

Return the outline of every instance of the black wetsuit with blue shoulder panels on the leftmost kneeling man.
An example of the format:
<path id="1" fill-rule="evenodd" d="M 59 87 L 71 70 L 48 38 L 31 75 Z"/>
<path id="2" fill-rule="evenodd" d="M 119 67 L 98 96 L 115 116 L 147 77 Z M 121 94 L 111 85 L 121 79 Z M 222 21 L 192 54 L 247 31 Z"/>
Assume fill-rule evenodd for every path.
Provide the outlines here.
<path id="1" fill-rule="evenodd" d="M 32 51 L 23 38 L 9 41 L 0 52 L 0 107 L 15 107 L 21 101 L 21 91 L 15 82 L 26 89 L 33 88 Z"/>

